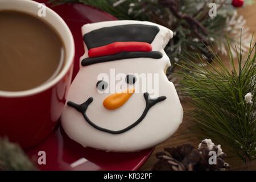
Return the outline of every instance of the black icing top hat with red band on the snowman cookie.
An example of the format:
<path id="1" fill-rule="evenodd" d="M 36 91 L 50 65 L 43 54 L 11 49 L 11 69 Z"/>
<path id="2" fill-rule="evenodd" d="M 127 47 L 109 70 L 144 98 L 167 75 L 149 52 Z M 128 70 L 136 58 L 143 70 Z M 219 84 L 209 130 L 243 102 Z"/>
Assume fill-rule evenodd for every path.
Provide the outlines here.
<path id="1" fill-rule="evenodd" d="M 159 32 L 158 26 L 125 24 L 103 27 L 84 35 L 88 56 L 82 66 L 131 59 L 137 57 L 162 58 L 162 53 L 152 51 L 151 43 Z"/>

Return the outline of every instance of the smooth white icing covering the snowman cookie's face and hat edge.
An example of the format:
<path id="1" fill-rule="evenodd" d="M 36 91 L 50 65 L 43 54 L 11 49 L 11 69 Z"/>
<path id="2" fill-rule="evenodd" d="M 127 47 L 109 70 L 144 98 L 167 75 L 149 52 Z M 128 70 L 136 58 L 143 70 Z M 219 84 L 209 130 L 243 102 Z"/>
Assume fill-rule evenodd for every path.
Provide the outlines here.
<path id="1" fill-rule="evenodd" d="M 163 53 L 161 59 L 134 58 L 108 61 L 82 67 L 69 89 L 67 101 L 82 104 L 89 97 L 93 102 L 88 106 L 86 115 L 97 126 L 109 130 L 122 130 L 133 124 L 142 115 L 146 102 L 143 92 L 134 93 L 129 100 L 115 110 L 108 110 L 102 105 L 106 97 L 113 93 L 99 93 L 96 84 L 100 73 L 110 76 L 110 69 L 115 69 L 115 74 L 125 73 L 156 73 L 159 76 L 159 86 L 155 88 L 159 96 L 166 96 L 166 100 L 151 107 L 146 117 L 137 126 L 121 134 L 110 134 L 90 126 L 83 115 L 67 104 L 61 115 L 61 125 L 67 135 L 84 147 L 93 147 L 105 151 L 140 151 L 156 146 L 175 133 L 183 118 L 183 109 L 177 96 L 174 84 L 168 81 L 164 70 L 170 66 L 170 60 L 164 52 L 164 47 L 172 38 L 172 31 L 166 27 L 151 22 L 134 20 L 116 20 L 85 24 L 82 35 L 102 27 L 111 27 L 123 24 L 148 24 L 158 26 L 160 31 L 151 43 L 152 51 Z M 80 61 L 88 57 L 85 45 L 85 54 Z M 122 80 L 125 82 L 125 80 Z M 110 83 L 108 83 L 110 86 Z M 142 84 L 142 82 L 135 82 Z M 129 85 L 130 87 L 131 85 Z M 135 86 L 135 85 L 134 85 Z M 146 90 L 148 92 L 148 90 Z M 151 96 L 150 96 L 151 97 Z M 155 97 L 152 97 L 155 98 Z"/>

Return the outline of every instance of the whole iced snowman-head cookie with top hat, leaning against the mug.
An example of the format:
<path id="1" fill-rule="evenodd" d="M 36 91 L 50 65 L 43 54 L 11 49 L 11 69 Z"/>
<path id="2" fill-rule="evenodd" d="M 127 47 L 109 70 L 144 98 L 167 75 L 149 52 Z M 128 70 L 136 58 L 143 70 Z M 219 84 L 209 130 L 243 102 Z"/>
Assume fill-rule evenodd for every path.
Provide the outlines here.
<path id="1" fill-rule="evenodd" d="M 172 31 L 116 20 L 82 27 L 85 54 L 69 89 L 61 125 L 84 147 L 140 151 L 169 138 L 183 109 L 166 69 Z"/>

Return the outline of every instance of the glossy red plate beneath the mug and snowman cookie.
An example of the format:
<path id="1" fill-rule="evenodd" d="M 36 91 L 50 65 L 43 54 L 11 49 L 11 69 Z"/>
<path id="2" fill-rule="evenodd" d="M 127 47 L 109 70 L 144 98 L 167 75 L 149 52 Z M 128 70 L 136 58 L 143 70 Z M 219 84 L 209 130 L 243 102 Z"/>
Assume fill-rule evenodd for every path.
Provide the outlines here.
<path id="1" fill-rule="evenodd" d="M 80 3 L 60 5 L 52 9 L 65 20 L 75 39 L 76 55 L 73 73 L 75 77 L 79 70 L 79 58 L 84 53 L 82 25 L 116 18 Z M 49 137 L 28 150 L 27 154 L 38 163 L 42 155 L 40 151 L 46 152 L 46 164 L 38 165 L 41 170 L 137 170 L 146 162 L 153 150 L 154 148 L 140 152 L 116 153 L 84 148 L 69 139 L 63 129 L 57 126 Z"/>

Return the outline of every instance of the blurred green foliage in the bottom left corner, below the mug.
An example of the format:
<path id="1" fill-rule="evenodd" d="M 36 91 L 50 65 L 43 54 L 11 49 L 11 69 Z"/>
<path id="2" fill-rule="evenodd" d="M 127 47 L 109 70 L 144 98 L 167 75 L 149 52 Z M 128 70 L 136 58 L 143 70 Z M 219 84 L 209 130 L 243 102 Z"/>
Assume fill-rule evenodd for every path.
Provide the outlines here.
<path id="1" fill-rule="evenodd" d="M 7 138 L 0 138 L 0 171 L 35 169 L 18 144 L 9 142 Z"/>

